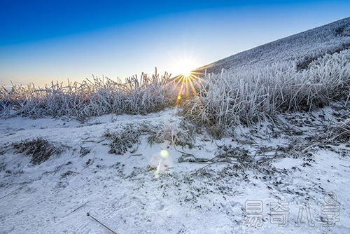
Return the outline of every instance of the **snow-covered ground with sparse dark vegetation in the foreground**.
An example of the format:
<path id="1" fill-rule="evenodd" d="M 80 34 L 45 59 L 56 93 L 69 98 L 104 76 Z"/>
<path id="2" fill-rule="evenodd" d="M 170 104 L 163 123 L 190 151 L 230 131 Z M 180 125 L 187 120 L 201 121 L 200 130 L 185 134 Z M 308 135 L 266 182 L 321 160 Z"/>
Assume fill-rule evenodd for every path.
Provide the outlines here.
<path id="1" fill-rule="evenodd" d="M 349 118 L 342 106 L 286 113 L 220 140 L 197 131 L 190 147 L 151 144 L 144 133 L 123 155 L 109 153 L 105 132 L 148 125 L 158 138 L 186 135 L 177 110 L 1 120 L 0 233 L 350 233 L 350 143 L 329 132 Z M 39 165 L 16 153 L 13 142 L 36 137 L 63 152 Z"/>

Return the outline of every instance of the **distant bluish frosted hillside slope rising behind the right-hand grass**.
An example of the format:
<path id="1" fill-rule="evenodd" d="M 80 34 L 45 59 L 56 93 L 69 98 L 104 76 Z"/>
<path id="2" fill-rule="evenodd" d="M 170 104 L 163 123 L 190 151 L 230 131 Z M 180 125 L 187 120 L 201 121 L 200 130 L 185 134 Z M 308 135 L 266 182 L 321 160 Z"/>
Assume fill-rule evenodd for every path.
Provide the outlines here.
<path id="1" fill-rule="evenodd" d="M 300 69 L 326 53 L 339 53 L 350 48 L 350 18 L 337 20 L 299 34 L 272 41 L 251 50 L 225 57 L 199 70 L 218 73 L 251 64 L 295 61 Z"/>

